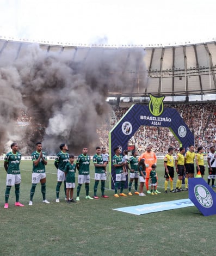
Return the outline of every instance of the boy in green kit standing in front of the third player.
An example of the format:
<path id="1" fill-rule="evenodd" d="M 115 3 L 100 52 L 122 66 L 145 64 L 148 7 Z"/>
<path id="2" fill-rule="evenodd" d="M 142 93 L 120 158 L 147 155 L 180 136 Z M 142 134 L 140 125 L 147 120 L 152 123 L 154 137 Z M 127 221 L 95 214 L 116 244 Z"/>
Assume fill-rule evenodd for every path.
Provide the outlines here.
<path id="1" fill-rule="evenodd" d="M 65 166 L 65 176 L 66 176 L 66 197 L 67 203 L 76 203 L 73 200 L 73 188 L 75 188 L 75 172 L 76 164 L 74 163 L 75 157 L 73 155 L 69 156 L 69 162 Z M 70 194 L 70 197 L 69 197 Z"/>

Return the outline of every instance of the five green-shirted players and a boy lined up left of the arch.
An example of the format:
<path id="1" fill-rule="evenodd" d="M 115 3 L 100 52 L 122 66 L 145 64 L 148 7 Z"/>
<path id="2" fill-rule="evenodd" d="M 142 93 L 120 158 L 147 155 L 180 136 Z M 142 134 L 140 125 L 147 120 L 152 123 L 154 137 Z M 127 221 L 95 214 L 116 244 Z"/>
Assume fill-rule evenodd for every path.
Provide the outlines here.
<path id="1" fill-rule="evenodd" d="M 20 199 L 20 184 L 21 184 L 21 174 L 20 174 L 20 162 L 22 155 L 18 151 L 18 144 L 12 143 L 10 145 L 11 152 L 9 152 L 4 157 L 4 168 L 7 172 L 6 178 L 6 190 L 5 190 L 5 204 L 4 208 L 9 207 L 8 200 L 10 195 L 11 186 L 15 186 L 15 206 L 24 206 L 19 202 Z M 98 199 L 96 196 L 97 186 L 99 180 L 101 180 L 101 192 L 103 198 L 108 198 L 104 194 L 105 181 L 106 181 L 106 166 L 108 163 L 108 154 L 104 153 L 101 156 L 101 148 L 96 148 L 96 154 L 93 157 L 93 162 L 95 165 L 95 185 L 94 185 L 94 198 L 89 196 L 89 165 L 90 156 L 88 153 L 88 148 L 83 148 L 83 153 L 78 156 L 75 164 L 75 156 L 69 155 L 67 153 L 68 147 L 65 143 L 60 145 L 60 152 L 55 157 L 54 165 L 57 168 L 57 186 L 56 186 L 56 199 L 55 202 L 59 203 L 59 191 L 62 182 L 64 182 L 65 199 L 67 203 L 76 203 L 73 199 L 73 188 L 75 188 L 75 172 L 76 168 L 78 170 L 78 186 L 77 186 L 77 198 L 79 201 L 79 193 L 81 191 L 82 184 L 85 183 L 86 199 Z M 105 160 L 105 161 L 104 161 Z M 30 200 L 29 205 L 33 205 L 33 197 L 35 193 L 35 188 L 38 183 L 41 184 L 41 193 L 43 198 L 43 203 L 50 204 L 46 199 L 46 169 L 47 156 L 45 151 L 42 151 L 42 143 L 36 143 L 36 150 L 32 153 L 32 187 L 30 189 Z"/>

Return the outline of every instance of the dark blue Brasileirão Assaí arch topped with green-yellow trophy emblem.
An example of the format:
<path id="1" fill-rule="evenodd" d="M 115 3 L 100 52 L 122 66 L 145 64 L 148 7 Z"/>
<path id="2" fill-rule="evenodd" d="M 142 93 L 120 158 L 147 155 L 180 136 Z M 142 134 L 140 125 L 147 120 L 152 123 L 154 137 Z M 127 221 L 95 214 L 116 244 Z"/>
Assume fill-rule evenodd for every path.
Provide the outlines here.
<path id="1" fill-rule="evenodd" d="M 123 150 L 127 149 L 127 143 L 140 126 L 156 126 L 168 127 L 180 147 L 188 148 L 189 145 L 194 145 L 194 135 L 189 130 L 181 115 L 175 108 L 165 108 L 163 106 L 164 96 L 155 97 L 150 95 L 149 106 L 147 105 L 132 105 L 126 114 L 109 132 L 109 156 L 112 160 L 114 148 L 120 147 Z M 114 189 L 115 169 L 112 161 L 109 162 L 109 170 L 113 178 L 111 188 Z M 127 183 L 126 183 L 127 184 Z"/>

